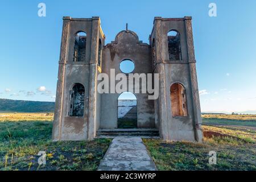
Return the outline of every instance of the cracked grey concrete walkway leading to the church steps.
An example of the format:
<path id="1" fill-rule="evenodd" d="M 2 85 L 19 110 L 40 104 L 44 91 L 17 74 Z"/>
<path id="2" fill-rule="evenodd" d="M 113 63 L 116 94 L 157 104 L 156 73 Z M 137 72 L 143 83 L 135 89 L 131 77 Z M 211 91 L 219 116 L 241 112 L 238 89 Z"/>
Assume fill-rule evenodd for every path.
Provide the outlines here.
<path id="1" fill-rule="evenodd" d="M 115 137 L 98 171 L 155 171 L 141 137 Z"/>

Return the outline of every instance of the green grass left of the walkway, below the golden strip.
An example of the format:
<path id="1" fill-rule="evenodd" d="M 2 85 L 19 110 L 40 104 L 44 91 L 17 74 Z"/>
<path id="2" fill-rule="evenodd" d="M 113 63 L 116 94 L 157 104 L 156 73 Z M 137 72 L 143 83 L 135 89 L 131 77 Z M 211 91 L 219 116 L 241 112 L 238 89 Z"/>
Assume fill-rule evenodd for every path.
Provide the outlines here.
<path id="1" fill-rule="evenodd" d="M 52 142 L 51 121 L 1 121 L 0 170 L 96 170 L 111 139 Z M 46 165 L 38 152 L 46 151 Z"/>

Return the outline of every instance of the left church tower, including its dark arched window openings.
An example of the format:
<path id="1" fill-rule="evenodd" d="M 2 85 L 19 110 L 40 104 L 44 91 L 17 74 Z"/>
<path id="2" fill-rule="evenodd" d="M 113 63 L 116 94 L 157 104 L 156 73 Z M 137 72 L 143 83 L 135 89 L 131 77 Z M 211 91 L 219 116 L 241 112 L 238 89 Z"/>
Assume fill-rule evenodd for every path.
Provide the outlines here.
<path id="1" fill-rule="evenodd" d="M 100 18 L 63 18 L 53 140 L 93 139 L 100 105 L 97 75 L 105 36 Z"/>

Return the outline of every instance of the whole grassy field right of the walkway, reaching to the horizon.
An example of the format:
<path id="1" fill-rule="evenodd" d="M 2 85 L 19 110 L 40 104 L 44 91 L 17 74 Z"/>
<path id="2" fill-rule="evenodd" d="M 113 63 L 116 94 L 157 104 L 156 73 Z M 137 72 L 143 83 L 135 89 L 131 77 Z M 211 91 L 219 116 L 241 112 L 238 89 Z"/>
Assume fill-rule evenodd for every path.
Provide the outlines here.
<path id="1" fill-rule="evenodd" d="M 159 170 L 256 171 L 256 115 L 203 115 L 204 142 L 143 139 Z M 217 164 L 209 164 L 216 151 Z"/>

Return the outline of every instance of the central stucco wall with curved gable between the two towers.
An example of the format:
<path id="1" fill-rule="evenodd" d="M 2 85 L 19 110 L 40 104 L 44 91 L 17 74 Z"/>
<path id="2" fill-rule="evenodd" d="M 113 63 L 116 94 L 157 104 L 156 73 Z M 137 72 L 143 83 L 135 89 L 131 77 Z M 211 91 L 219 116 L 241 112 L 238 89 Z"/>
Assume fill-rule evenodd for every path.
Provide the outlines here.
<path id="1" fill-rule="evenodd" d="M 151 48 L 148 44 L 139 42 L 138 36 L 132 31 L 119 32 L 115 41 L 105 46 L 102 73 L 109 77 L 110 69 L 115 69 L 115 75 L 121 73 L 119 64 L 124 59 L 134 62 L 135 69 L 132 73 L 152 73 Z M 155 127 L 154 101 L 148 100 L 148 94 L 134 94 L 138 102 L 138 127 Z M 102 94 L 101 128 L 117 127 L 118 96 L 118 93 Z"/>

